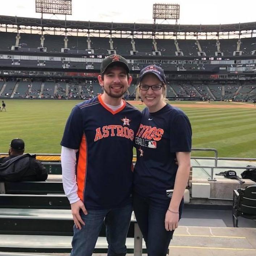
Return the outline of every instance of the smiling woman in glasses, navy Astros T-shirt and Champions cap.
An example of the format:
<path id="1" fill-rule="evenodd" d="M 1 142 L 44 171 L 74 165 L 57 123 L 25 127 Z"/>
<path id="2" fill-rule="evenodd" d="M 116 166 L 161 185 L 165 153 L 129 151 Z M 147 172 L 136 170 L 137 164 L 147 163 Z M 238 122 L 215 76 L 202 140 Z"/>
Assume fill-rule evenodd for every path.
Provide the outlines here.
<path id="1" fill-rule="evenodd" d="M 181 218 L 190 170 L 190 122 L 180 109 L 166 103 L 166 91 L 162 68 L 150 65 L 140 72 L 137 97 L 147 107 L 135 137 L 133 200 L 149 256 L 167 253 Z"/>

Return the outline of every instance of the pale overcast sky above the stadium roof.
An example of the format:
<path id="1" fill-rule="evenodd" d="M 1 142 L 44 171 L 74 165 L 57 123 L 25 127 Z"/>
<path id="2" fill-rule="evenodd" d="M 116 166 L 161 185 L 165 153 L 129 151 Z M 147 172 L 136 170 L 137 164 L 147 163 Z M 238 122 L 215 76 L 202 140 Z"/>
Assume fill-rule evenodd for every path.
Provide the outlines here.
<path id="1" fill-rule="evenodd" d="M 1 1 L 3 2 L 3 0 Z M 67 20 L 153 23 L 155 3 L 180 4 L 178 24 L 231 24 L 256 21 L 255 0 L 73 0 Z M 0 15 L 40 18 L 35 0 L 8 0 L 1 4 Z M 64 20 L 63 15 L 44 14 L 44 18 Z M 175 24 L 174 20 L 157 23 Z"/>

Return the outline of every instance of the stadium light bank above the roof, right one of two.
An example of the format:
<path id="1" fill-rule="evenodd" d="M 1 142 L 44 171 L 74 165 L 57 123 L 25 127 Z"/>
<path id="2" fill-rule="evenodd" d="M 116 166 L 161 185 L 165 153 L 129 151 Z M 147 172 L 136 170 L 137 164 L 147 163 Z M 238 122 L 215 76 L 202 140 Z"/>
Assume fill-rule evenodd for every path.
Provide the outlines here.
<path id="1" fill-rule="evenodd" d="M 153 4 L 154 24 L 158 20 L 177 20 L 180 18 L 179 4 Z"/>

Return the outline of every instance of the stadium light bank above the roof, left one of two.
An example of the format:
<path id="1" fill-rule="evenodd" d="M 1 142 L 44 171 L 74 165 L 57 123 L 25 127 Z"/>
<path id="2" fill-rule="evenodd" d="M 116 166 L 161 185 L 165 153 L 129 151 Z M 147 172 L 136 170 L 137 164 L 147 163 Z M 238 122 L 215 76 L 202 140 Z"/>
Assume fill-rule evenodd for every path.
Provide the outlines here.
<path id="1" fill-rule="evenodd" d="M 35 12 L 72 15 L 72 0 L 35 0 Z"/>

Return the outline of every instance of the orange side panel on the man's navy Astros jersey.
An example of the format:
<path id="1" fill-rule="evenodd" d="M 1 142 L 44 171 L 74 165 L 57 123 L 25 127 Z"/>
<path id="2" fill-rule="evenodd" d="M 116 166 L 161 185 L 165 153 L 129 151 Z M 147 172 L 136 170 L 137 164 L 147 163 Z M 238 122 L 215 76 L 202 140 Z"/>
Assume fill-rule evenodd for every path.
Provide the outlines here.
<path id="1" fill-rule="evenodd" d="M 79 147 L 79 158 L 77 164 L 77 194 L 79 198 L 83 201 L 84 199 L 84 189 L 85 189 L 85 179 L 87 172 L 87 141 L 85 135 L 83 135 L 80 147 Z"/>

